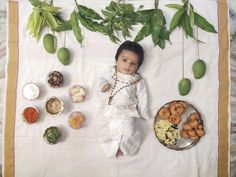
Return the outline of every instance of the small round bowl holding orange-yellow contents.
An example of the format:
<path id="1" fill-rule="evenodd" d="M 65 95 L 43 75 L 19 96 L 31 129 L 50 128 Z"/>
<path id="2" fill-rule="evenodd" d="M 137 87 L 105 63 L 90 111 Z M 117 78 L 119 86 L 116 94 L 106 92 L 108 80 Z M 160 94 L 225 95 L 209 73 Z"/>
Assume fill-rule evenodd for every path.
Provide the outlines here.
<path id="1" fill-rule="evenodd" d="M 82 112 L 72 112 L 68 117 L 68 125 L 73 129 L 80 129 L 84 127 L 86 119 Z"/>

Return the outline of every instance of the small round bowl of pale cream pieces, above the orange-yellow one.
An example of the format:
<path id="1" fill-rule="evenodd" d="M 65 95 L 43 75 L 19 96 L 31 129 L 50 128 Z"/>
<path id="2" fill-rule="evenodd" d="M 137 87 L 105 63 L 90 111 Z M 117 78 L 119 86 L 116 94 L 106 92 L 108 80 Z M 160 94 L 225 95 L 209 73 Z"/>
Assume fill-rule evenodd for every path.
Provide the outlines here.
<path id="1" fill-rule="evenodd" d="M 86 91 L 82 86 L 74 85 L 69 89 L 68 95 L 71 101 L 73 101 L 74 103 L 80 103 L 84 101 L 86 97 Z"/>

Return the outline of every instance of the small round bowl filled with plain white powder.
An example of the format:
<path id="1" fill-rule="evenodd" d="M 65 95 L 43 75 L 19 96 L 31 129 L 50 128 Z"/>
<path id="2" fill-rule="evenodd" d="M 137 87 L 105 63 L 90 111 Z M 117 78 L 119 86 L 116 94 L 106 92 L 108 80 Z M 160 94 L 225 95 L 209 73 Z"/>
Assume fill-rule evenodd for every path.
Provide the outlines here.
<path id="1" fill-rule="evenodd" d="M 35 100 L 39 97 L 39 86 L 33 82 L 29 82 L 22 88 L 22 95 L 27 100 Z"/>

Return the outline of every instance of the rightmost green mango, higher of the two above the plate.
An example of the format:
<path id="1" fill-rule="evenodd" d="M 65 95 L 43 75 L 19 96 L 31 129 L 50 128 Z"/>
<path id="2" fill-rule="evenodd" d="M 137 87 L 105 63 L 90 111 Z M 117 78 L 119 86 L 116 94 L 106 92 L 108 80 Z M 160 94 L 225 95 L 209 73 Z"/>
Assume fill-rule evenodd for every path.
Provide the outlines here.
<path id="1" fill-rule="evenodd" d="M 193 75 L 195 79 L 200 79 L 206 72 L 206 64 L 203 60 L 196 60 L 192 66 Z"/>

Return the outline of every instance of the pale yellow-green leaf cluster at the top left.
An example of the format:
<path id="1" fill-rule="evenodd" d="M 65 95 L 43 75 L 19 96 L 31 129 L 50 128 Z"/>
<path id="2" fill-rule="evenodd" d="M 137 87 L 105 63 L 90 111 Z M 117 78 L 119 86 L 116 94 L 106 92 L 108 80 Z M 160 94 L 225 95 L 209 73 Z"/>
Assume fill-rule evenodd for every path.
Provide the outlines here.
<path id="1" fill-rule="evenodd" d="M 26 29 L 36 40 L 39 39 L 42 29 L 49 26 L 50 29 L 56 28 L 64 20 L 61 18 L 60 7 L 55 7 L 46 1 L 29 0 L 34 6 L 28 18 Z"/>

